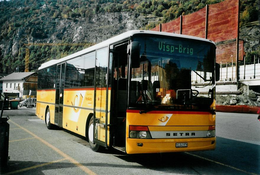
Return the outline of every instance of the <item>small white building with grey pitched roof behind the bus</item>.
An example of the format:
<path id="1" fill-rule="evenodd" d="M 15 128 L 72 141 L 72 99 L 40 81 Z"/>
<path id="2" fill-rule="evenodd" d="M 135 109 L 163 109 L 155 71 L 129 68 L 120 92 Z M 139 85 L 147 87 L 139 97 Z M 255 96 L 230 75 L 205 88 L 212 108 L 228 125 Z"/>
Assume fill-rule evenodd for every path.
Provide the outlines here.
<path id="1" fill-rule="evenodd" d="M 3 82 L 3 93 L 9 96 L 36 95 L 37 72 L 14 72 L 0 79 Z"/>

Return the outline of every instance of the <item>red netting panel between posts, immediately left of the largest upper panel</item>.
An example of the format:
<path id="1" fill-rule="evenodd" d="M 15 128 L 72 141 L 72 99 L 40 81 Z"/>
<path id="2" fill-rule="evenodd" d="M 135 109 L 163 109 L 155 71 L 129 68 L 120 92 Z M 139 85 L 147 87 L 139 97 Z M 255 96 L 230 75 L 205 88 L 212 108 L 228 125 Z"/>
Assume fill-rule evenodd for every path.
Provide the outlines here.
<path id="1" fill-rule="evenodd" d="M 182 34 L 205 38 L 206 8 L 182 17 Z"/>

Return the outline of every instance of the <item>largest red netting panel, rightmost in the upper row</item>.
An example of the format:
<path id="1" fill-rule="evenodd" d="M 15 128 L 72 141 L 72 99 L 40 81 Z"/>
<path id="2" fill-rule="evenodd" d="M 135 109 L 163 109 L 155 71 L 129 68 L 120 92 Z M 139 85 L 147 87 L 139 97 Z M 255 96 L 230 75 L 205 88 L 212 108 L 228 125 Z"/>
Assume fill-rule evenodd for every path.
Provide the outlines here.
<path id="1" fill-rule="evenodd" d="M 208 39 L 219 42 L 237 38 L 238 0 L 209 5 Z"/>

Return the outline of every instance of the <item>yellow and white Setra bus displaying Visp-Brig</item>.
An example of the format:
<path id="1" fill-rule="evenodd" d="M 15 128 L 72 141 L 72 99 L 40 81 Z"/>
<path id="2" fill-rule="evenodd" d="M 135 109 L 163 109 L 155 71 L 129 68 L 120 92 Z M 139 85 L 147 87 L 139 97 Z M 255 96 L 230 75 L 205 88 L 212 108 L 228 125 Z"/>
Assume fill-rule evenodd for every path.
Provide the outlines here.
<path id="1" fill-rule="evenodd" d="M 215 50 L 203 38 L 128 31 L 42 64 L 36 114 L 48 129 L 85 136 L 93 151 L 213 150 Z M 194 86 L 195 76 L 204 83 Z"/>

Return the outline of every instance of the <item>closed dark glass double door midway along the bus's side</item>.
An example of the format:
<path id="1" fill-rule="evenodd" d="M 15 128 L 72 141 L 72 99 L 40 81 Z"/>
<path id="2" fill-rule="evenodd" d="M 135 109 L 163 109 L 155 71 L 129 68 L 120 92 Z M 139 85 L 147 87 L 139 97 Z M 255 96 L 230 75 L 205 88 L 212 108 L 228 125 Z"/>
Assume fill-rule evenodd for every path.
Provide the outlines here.
<path id="1" fill-rule="evenodd" d="M 55 116 L 54 116 L 54 122 L 59 127 L 62 127 L 62 120 L 63 120 L 64 78 L 65 78 L 65 63 L 61 63 L 57 65 Z"/>

